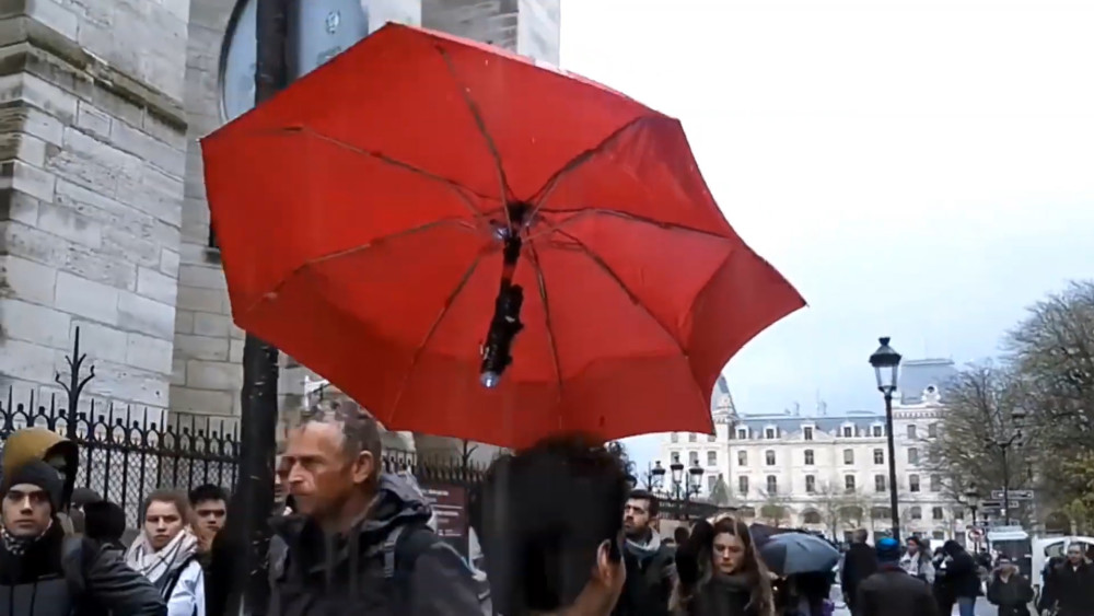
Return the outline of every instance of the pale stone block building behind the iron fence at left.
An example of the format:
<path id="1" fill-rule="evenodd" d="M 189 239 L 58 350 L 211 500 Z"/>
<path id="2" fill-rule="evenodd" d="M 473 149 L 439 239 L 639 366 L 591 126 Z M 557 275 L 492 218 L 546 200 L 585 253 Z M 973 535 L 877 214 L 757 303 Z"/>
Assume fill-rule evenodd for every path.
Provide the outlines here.
<path id="1" fill-rule="evenodd" d="M 238 104 L 248 88 L 225 74 L 225 39 L 253 45 L 255 1 L 0 2 L 0 391 L 16 402 L 58 393 L 79 327 L 96 374 L 82 403 L 237 416 L 243 333 L 198 139 L 235 112 L 224 94 Z M 310 40 L 364 16 L 361 35 L 394 20 L 558 61 L 559 0 L 301 7 L 321 28 Z M 283 367 L 282 408 L 302 403 L 305 372 Z"/>

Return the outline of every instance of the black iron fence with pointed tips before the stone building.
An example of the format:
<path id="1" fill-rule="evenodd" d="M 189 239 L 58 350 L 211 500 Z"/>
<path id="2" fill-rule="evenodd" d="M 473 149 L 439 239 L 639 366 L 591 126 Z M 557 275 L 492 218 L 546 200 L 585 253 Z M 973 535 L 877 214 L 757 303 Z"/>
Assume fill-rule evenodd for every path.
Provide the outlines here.
<path id="1" fill-rule="evenodd" d="M 15 399 L 14 387 L 0 398 L 0 452 L 12 432 L 43 427 L 67 437 L 80 449 L 78 487 L 95 490 L 126 511 L 130 525 L 139 520 L 140 505 L 159 488 L 190 490 L 216 484 L 232 490 L 238 473 L 240 440 L 234 418 L 176 415 L 137 405 L 89 399 L 81 408 L 84 386 L 95 376 L 84 371 L 86 353 L 75 332 L 73 352 L 66 358 L 69 375 L 57 375 L 63 393 L 35 399 Z M 69 418 L 73 417 L 72 421 Z M 481 480 L 484 469 L 467 455 L 419 456 L 412 451 L 387 451 L 384 469 L 410 473 L 422 486 L 468 489 Z"/>

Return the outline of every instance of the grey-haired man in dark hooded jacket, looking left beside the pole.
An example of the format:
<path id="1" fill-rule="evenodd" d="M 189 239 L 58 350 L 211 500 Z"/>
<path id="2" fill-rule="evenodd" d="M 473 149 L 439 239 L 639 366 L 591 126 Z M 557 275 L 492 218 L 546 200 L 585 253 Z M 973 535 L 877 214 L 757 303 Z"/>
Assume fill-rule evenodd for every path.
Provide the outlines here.
<path id="1" fill-rule="evenodd" d="M 381 454 L 376 419 L 352 402 L 322 400 L 289 431 L 279 470 L 298 510 L 272 522 L 288 549 L 270 614 L 482 615 L 459 554 Z"/>

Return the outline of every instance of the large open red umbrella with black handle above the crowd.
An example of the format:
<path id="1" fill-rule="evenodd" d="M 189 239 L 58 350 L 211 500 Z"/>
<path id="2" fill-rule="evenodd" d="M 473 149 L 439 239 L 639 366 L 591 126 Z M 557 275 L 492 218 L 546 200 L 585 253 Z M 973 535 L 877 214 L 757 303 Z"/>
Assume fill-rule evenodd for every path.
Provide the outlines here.
<path id="1" fill-rule="evenodd" d="M 235 322 L 389 429 L 709 432 L 725 363 L 804 305 L 677 120 L 443 34 L 385 26 L 202 153 Z"/>

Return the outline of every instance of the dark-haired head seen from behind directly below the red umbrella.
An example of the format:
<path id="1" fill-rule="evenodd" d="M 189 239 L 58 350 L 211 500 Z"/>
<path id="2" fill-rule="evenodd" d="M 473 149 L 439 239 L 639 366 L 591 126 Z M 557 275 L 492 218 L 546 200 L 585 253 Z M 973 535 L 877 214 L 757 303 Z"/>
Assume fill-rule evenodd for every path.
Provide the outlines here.
<path id="1" fill-rule="evenodd" d="M 494 608 L 516 616 L 580 603 L 585 614 L 608 614 L 626 578 L 629 491 L 618 454 L 583 435 L 494 461 L 469 507 Z"/>

